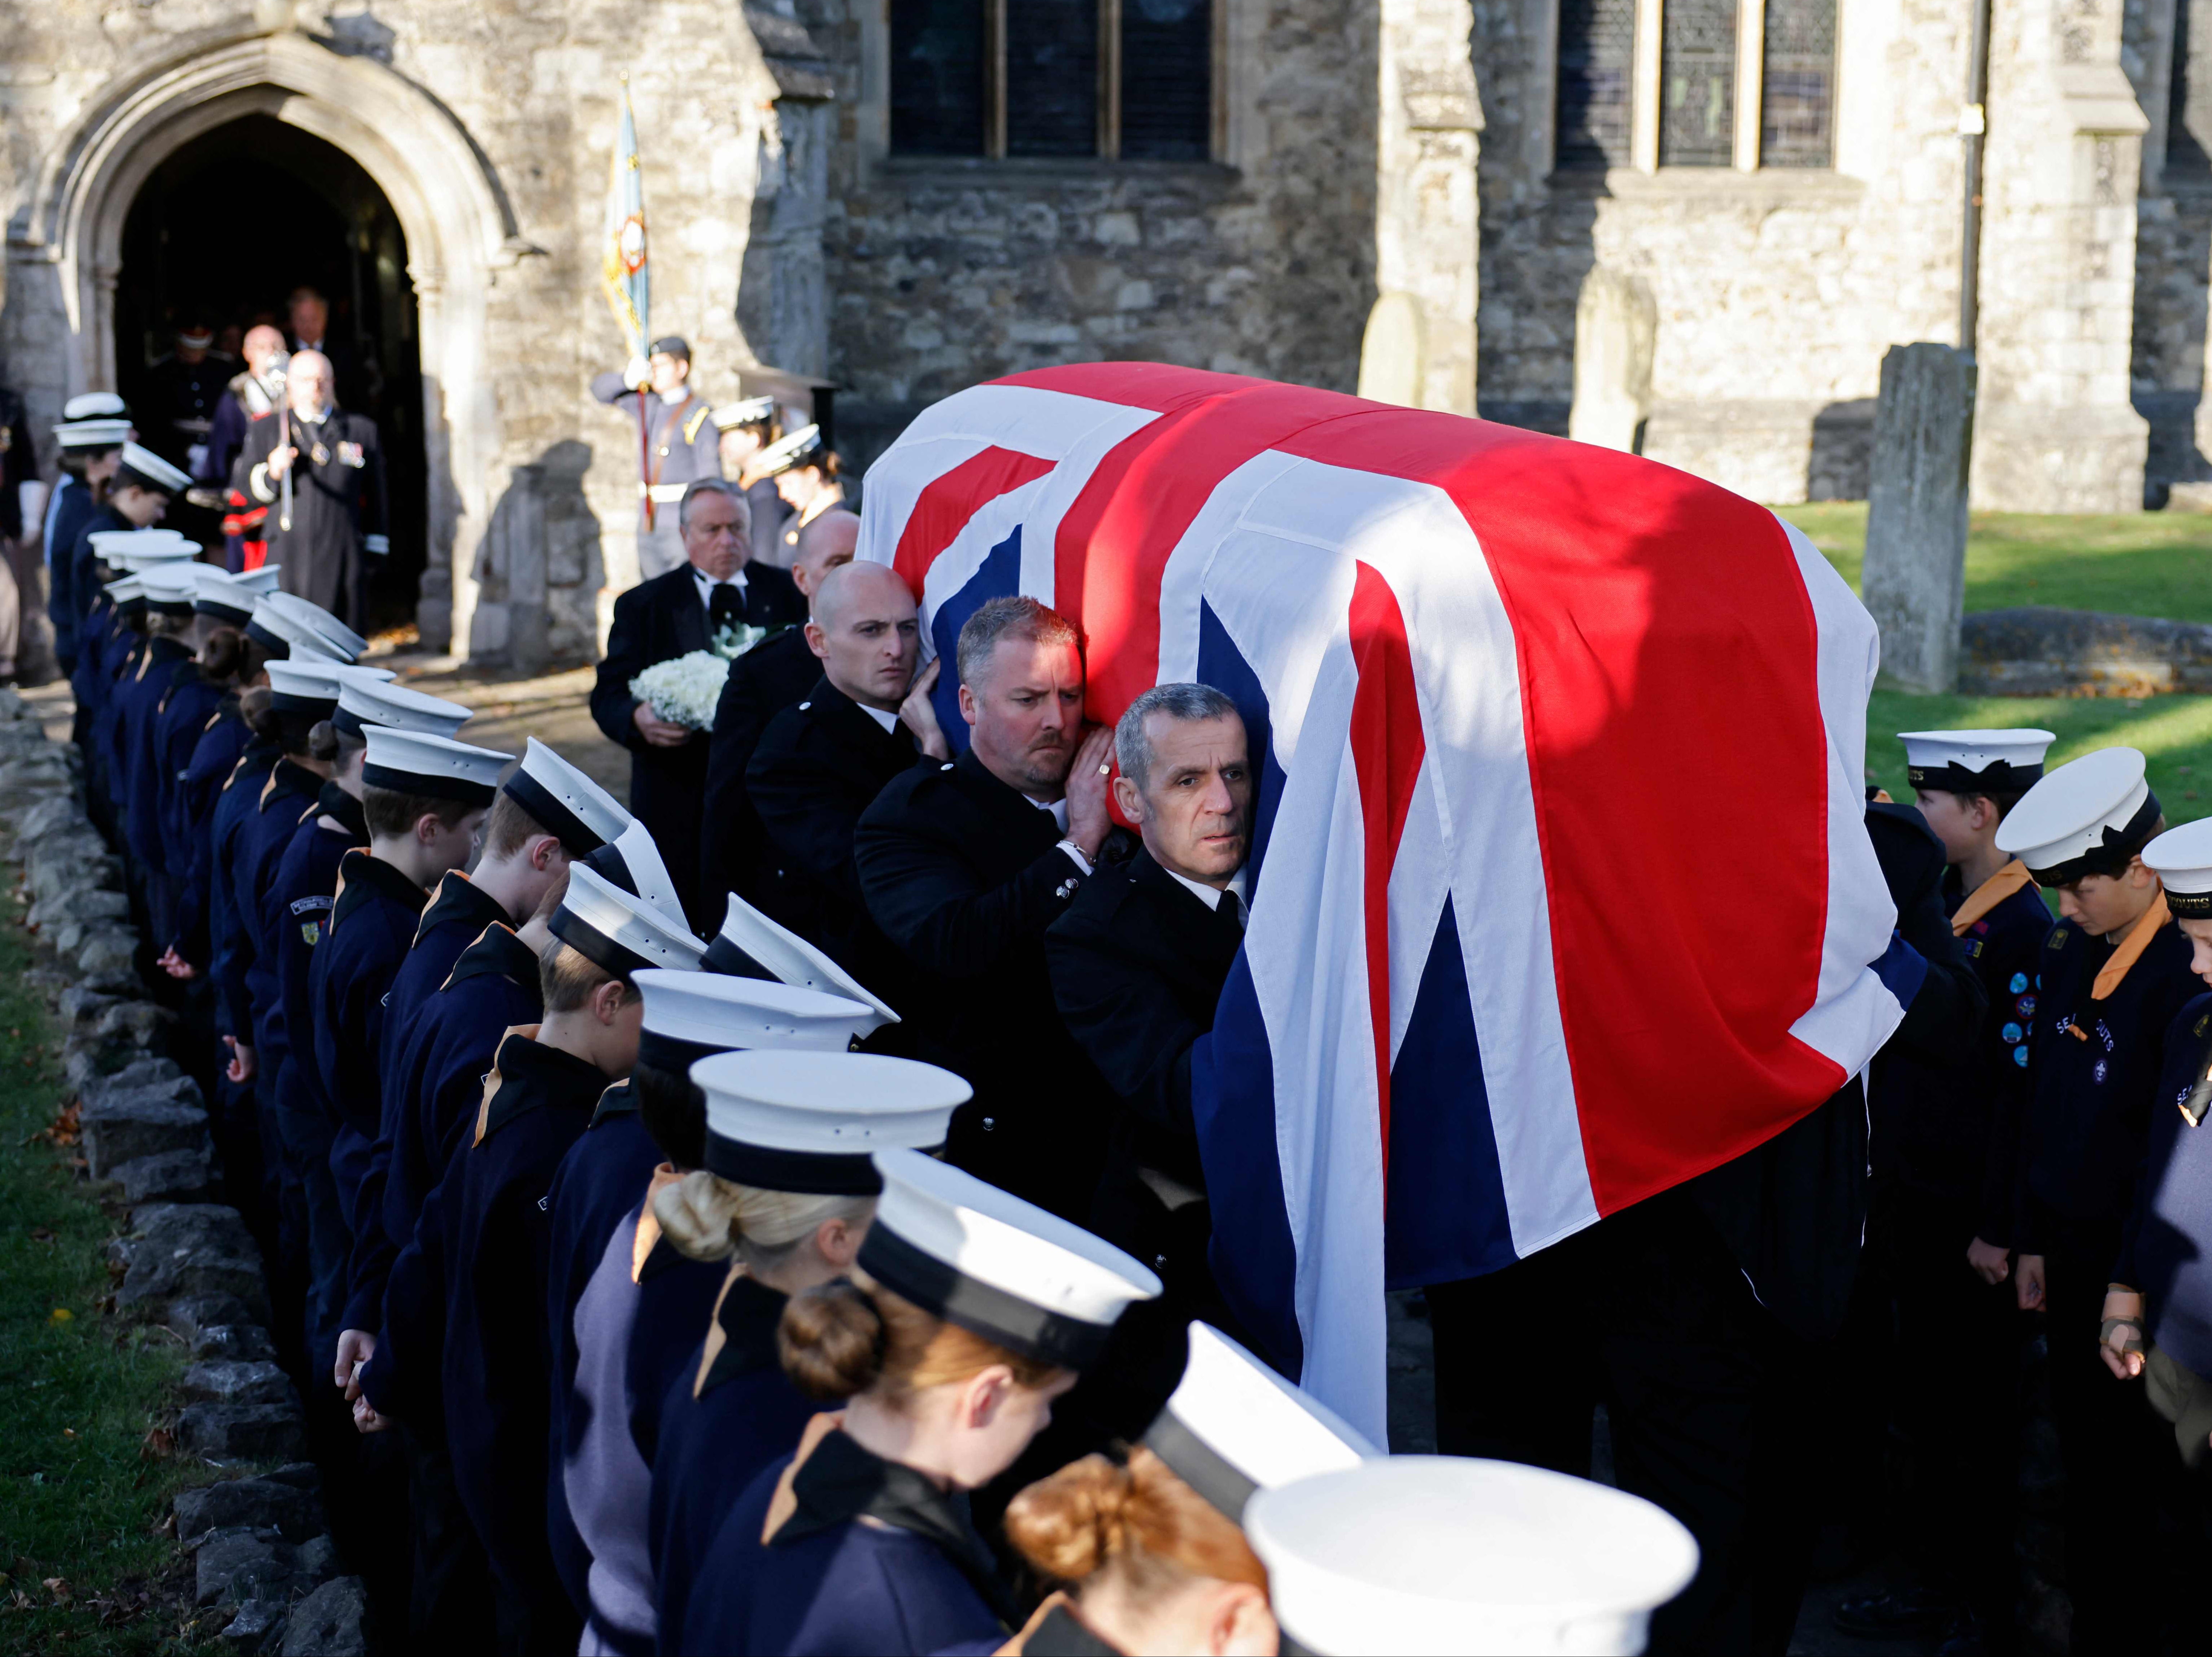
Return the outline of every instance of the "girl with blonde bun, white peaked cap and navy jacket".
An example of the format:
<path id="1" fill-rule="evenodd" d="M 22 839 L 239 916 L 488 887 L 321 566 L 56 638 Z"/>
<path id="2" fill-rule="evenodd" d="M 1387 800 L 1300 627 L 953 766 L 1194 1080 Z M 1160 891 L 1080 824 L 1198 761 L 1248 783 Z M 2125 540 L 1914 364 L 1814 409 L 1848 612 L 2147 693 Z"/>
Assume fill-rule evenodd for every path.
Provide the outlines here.
<path id="1" fill-rule="evenodd" d="M 763 984 L 745 984 L 763 991 Z M 781 996 L 805 996 L 774 987 Z M 847 1033 L 876 1024 L 847 1009 Z M 949 1071 L 867 1053 L 730 1053 L 692 1064 L 706 1097 L 703 1166 L 659 1192 L 664 1237 L 732 1261 L 703 1341 L 666 1378 L 653 1445 L 648 1538 L 659 1648 L 688 1633 L 699 1560 L 752 1478 L 799 1442 L 814 1403 L 783 1374 L 785 1299 L 852 1270 L 883 1179 L 876 1146 L 940 1146 L 969 1086 Z M 641 1392 L 646 1376 L 637 1376 Z"/>

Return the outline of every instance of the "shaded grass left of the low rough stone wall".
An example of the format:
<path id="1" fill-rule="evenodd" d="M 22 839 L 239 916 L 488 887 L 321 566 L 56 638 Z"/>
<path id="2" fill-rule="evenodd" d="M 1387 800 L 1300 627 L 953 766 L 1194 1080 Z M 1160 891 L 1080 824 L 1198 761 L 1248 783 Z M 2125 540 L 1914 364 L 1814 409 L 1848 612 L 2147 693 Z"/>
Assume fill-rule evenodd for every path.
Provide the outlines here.
<path id="1" fill-rule="evenodd" d="M 0 1650 L 197 1650 L 212 1642 L 159 1591 L 179 1562 L 155 1529 L 192 1469 L 148 1458 L 184 1352 L 102 1312 L 115 1226 L 73 1144 L 46 1137 L 66 1084 L 27 967 L 22 907 L 0 892 Z"/>

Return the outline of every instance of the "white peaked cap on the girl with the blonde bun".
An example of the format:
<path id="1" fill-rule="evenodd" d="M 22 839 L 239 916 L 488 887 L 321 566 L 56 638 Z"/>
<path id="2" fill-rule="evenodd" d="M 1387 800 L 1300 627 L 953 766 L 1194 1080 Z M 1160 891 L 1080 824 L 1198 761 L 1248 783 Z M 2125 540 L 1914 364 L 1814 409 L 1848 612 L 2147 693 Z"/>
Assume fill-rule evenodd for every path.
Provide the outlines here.
<path id="1" fill-rule="evenodd" d="M 880 1053 L 717 1053 L 695 1062 L 690 1080 L 706 1095 L 708 1173 L 823 1197 L 883 1190 L 874 1153 L 945 1144 L 953 1111 L 969 1102 L 969 1084 L 951 1071 Z"/>

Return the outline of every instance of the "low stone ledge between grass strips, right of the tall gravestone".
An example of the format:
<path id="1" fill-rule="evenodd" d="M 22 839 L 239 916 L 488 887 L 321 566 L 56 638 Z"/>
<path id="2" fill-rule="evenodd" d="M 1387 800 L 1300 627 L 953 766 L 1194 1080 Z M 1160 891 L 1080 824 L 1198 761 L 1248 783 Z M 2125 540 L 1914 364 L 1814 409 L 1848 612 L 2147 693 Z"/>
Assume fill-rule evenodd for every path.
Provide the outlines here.
<path id="1" fill-rule="evenodd" d="M 1960 695 L 2148 697 L 2212 692 L 2212 626 L 2022 606 L 1960 628 Z"/>

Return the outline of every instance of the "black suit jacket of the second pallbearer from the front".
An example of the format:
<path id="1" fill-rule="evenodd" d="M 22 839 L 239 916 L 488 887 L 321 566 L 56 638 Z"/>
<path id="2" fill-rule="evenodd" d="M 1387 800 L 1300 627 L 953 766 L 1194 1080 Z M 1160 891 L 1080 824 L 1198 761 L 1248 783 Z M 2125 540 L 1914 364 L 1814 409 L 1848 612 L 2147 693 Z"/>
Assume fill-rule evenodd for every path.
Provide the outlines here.
<path id="1" fill-rule="evenodd" d="M 1044 929 L 1086 876 L 1051 812 L 973 750 L 891 779 L 860 814 L 867 911 L 918 969 L 922 1057 L 975 1088 L 949 1159 L 1057 1215 L 1091 1212 L 1113 1095 L 1053 1004 Z"/>

